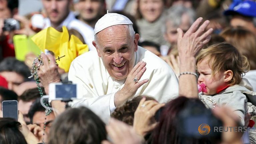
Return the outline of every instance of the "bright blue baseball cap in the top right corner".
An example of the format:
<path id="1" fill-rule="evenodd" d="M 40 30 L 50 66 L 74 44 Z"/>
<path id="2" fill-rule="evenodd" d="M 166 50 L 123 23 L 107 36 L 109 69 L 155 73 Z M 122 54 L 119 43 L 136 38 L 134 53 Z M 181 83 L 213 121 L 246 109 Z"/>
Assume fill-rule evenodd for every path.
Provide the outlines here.
<path id="1" fill-rule="evenodd" d="M 230 5 L 229 9 L 224 11 L 224 15 L 240 14 L 248 17 L 256 17 L 256 2 L 255 1 L 242 1 L 236 6 Z"/>

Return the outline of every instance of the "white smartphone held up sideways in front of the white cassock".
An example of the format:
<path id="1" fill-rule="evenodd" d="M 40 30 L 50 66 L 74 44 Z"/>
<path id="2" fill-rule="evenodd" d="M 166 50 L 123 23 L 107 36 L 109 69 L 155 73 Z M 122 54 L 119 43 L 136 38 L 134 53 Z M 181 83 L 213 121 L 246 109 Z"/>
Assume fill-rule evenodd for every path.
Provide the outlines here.
<path id="1" fill-rule="evenodd" d="M 77 84 L 50 83 L 49 99 L 81 99 L 83 96 L 80 90 L 81 88 Z"/>

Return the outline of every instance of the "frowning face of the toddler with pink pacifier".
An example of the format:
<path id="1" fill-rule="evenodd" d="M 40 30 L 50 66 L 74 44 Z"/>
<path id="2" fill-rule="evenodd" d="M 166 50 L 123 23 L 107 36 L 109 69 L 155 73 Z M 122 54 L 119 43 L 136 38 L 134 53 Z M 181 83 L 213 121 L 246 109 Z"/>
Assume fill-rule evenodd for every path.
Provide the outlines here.
<path id="1" fill-rule="evenodd" d="M 197 83 L 205 84 L 207 92 L 205 95 L 214 95 L 217 91 L 227 85 L 225 82 L 225 72 L 218 72 L 212 75 L 212 69 L 209 66 L 209 58 L 204 58 L 197 63 L 197 70 L 200 74 Z"/>

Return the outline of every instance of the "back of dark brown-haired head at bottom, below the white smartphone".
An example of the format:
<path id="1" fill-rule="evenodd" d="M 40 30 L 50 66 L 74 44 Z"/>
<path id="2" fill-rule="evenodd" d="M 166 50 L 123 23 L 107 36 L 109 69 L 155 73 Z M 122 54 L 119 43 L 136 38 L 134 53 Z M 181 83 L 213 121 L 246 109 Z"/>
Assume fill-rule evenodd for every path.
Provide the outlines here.
<path id="1" fill-rule="evenodd" d="M 71 108 L 52 124 L 48 144 L 101 144 L 107 139 L 104 122 L 86 107 Z"/>

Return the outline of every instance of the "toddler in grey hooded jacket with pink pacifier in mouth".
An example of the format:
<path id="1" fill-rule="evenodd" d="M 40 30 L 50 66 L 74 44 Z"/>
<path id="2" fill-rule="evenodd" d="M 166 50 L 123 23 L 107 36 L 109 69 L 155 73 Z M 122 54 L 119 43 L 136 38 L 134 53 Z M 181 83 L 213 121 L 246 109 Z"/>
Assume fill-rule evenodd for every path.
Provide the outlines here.
<path id="1" fill-rule="evenodd" d="M 234 110 L 245 125 L 245 114 L 255 114 L 255 106 L 247 103 L 246 95 L 253 94 L 242 76 L 250 69 L 245 56 L 228 44 L 220 43 L 202 49 L 196 59 L 199 99 L 206 107 L 226 105 Z M 243 84 L 243 86 L 241 85 Z M 248 125 L 246 125 L 248 126 Z"/>

